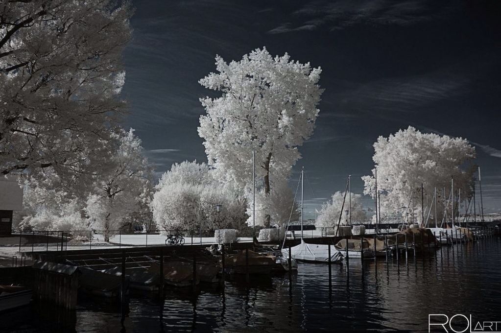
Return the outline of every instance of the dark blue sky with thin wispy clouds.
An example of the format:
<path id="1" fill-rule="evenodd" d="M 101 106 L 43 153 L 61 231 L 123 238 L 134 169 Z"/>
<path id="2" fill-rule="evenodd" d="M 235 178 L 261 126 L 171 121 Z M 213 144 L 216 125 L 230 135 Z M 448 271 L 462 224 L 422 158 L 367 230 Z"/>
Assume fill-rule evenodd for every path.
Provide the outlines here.
<path id="1" fill-rule="evenodd" d="M 206 161 L 198 137 L 209 92 L 197 81 L 214 57 L 239 60 L 266 46 L 323 70 L 306 169 L 306 207 L 333 192 L 361 192 L 372 144 L 412 125 L 476 146 L 486 211 L 501 200 L 501 2 L 137 0 L 125 51 L 126 126 L 136 129 L 159 173 Z"/>

